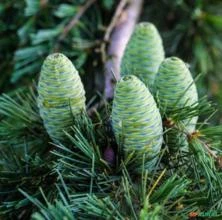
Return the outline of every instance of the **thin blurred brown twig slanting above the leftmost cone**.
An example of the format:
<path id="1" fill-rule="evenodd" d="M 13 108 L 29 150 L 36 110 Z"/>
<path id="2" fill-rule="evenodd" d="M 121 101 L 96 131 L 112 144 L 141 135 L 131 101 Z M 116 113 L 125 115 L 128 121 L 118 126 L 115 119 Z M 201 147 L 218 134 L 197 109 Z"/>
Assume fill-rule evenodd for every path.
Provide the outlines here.
<path id="1" fill-rule="evenodd" d="M 58 50 L 59 48 L 59 43 L 61 41 L 63 41 L 66 36 L 68 35 L 68 33 L 72 30 L 72 28 L 79 22 L 79 19 L 83 16 L 83 14 L 85 13 L 85 11 L 93 4 L 95 3 L 97 0 L 87 0 L 86 3 L 80 7 L 79 11 L 77 12 L 77 14 L 75 14 L 72 19 L 70 20 L 70 22 L 64 27 L 62 34 L 60 35 L 59 39 L 58 39 L 58 44 L 55 47 L 55 50 Z"/>

